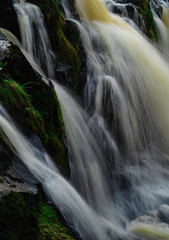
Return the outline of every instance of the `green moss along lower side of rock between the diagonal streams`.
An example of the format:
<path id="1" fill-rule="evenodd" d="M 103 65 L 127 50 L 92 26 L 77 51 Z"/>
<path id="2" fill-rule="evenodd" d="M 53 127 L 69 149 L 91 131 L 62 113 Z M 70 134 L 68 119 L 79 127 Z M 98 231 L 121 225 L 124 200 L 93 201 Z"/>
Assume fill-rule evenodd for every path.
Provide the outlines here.
<path id="1" fill-rule="evenodd" d="M 11 79 L 4 79 L 0 85 L 0 99 L 5 107 L 10 109 L 10 113 L 14 119 L 24 129 L 31 130 L 31 132 L 34 132 L 41 138 L 44 146 L 49 152 L 52 152 L 52 157 L 56 159 L 57 164 L 68 174 L 69 167 L 67 161 L 65 161 L 65 148 L 61 142 L 64 138 L 61 108 L 54 89 L 52 92 L 55 99 L 55 108 L 58 113 L 58 121 L 60 122 L 58 127 L 54 126 L 54 119 L 52 118 L 49 119 L 49 123 L 45 122 L 43 115 L 32 106 L 30 96 L 18 83 Z M 5 138 L 3 139 L 6 140 Z"/>

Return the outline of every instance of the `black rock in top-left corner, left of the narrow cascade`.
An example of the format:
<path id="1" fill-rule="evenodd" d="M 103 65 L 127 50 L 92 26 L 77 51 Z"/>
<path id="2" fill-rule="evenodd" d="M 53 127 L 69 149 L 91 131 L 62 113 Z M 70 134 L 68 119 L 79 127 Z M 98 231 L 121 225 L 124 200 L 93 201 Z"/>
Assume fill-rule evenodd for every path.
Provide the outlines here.
<path id="1" fill-rule="evenodd" d="M 9 30 L 18 39 L 20 39 L 17 15 L 13 7 L 12 0 L 1 0 L 0 16 L 1 16 L 0 27 Z"/>

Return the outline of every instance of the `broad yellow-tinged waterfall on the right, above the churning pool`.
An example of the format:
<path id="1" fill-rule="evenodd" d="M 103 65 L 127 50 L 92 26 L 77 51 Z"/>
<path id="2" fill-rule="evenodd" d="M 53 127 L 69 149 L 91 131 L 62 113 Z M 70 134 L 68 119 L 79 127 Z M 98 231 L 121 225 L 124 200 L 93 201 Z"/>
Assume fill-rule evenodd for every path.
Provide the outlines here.
<path id="1" fill-rule="evenodd" d="M 98 2 L 102 7 L 97 1 L 77 1 L 87 53 L 86 104 L 105 118 L 123 152 L 167 151 L 168 66 L 139 32 Z M 98 8 L 94 14 L 92 4 Z"/>

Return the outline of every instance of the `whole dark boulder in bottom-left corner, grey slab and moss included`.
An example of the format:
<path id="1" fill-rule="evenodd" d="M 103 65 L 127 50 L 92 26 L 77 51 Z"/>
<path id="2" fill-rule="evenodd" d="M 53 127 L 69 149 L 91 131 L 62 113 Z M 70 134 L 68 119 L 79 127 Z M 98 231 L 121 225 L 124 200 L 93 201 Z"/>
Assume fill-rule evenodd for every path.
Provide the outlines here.
<path id="1" fill-rule="evenodd" d="M 59 210 L 48 203 L 40 184 L 10 148 L 8 139 L 2 141 L 2 137 L 0 239 L 75 240 Z"/>

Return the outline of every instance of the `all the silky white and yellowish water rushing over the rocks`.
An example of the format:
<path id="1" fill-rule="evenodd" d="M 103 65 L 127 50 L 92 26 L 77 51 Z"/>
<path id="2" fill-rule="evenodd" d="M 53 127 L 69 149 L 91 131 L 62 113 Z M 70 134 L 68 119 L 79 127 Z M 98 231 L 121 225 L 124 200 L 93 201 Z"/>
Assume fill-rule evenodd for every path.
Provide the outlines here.
<path id="1" fill-rule="evenodd" d="M 106 4 L 110 11 L 120 7 L 123 18 Z M 37 6 L 15 1 L 22 44 L 2 30 L 43 80 L 50 78 L 54 85 L 70 148 L 71 183 L 47 154 L 37 157 L 38 149 L 2 107 L 0 126 L 83 240 L 169 239 L 169 11 L 168 1 L 153 4 L 163 4 L 161 19 L 153 11 L 158 47 L 140 34 L 137 21 L 128 19 L 126 4 L 76 0 L 77 21 L 63 1 L 87 55 L 84 102 L 92 110 L 90 117 L 55 81 L 54 56 Z M 144 22 L 141 26 L 142 31 Z"/>

